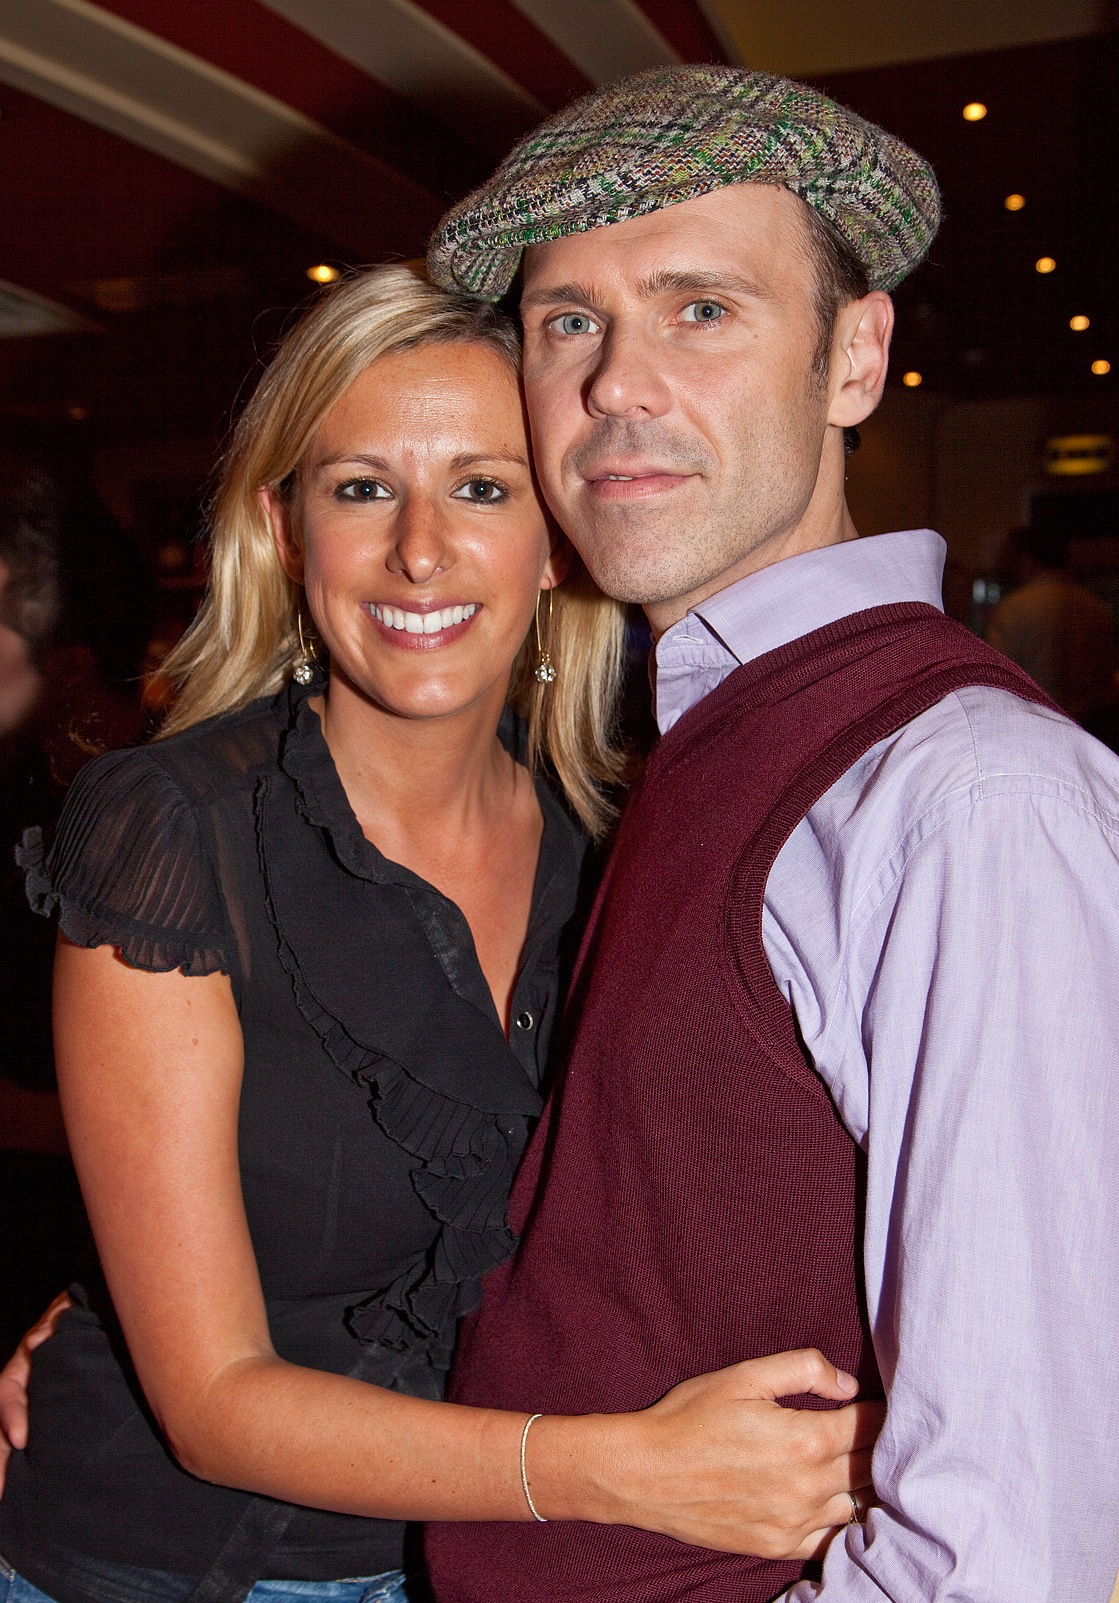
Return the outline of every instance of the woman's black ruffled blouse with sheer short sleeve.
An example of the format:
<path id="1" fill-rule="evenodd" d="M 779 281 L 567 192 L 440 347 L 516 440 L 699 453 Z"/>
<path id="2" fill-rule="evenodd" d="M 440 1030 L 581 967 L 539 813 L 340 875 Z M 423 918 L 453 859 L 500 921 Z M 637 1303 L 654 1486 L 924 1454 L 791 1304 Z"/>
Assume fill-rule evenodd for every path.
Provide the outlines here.
<path id="1" fill-rule="evenodd" d="M 311 686 L 314 691 L 316 686 Z M 32 904 L 136 968 L 228 973 L 245 1040 L 240 1172 L 277 1353 L 439 1396 L 455 1321 L 513 1247 L 584 838 L 548 787 L 507 1042 L 467 922 L 361 832 L 308 694 L 115 752 L 74 782 Z M 502 737 L 518 731 L 507 717 Z M 204 1573 L 245 1496 L 170 1457 L 99 1276 L 35 1353 L 0 1550 L 56 1595 L 56 1550 Z M 370 1480 L 377 1465 L 370 1464 Z M 394 1521 L 301 1510 L 269 1574 L 401 1565 Z M 48 1582 L 51 1582 L 48 1585 Z"/>

